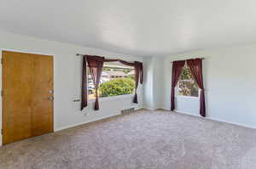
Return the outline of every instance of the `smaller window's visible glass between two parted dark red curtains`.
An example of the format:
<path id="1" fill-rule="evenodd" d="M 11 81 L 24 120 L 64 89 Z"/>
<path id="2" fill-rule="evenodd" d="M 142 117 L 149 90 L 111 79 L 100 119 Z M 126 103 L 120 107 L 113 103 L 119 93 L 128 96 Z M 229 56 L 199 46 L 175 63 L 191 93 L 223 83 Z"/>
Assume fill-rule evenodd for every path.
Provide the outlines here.
<path id="1" fill-rule="evenodd" d="M 191 71 L 187 65 L 183 67 L 182 74 L 177 83 L 177 95 L 179 96 L 199 96 L 199 87 L 197 86 Z"/>

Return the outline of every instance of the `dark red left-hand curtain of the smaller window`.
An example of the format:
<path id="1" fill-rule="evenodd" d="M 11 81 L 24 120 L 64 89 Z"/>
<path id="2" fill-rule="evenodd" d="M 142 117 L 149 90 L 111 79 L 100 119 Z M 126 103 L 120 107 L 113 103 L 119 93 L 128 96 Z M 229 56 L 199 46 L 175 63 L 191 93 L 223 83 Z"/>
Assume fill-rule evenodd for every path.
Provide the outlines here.
<path id="1" fill-rule="evenodd" d="M 185 60 L 174 61 L 172 63 L 172 93 L 171 93 L 171 110 L 175 110 L 175 87 L 177 85 L 179 76 L 182 73 Z"/>

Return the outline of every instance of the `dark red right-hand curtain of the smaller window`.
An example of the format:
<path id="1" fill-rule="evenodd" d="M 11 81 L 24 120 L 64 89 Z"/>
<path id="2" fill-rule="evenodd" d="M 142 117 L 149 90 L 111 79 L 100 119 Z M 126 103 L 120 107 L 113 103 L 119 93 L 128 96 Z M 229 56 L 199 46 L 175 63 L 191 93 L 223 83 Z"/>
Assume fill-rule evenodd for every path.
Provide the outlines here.
<path id="1" fill-rule="evenodd" d="M 202 59 L 188 59 L 187 65 L 191 70 L 192 76 L 195 78 L 195 82 L 198 87 L 201 88 L 200 93 L 200 115 L 206 116 L 206 101 L 205 101 L 205 88 L 203 83 L 203 75 L 202 75 Z"/>

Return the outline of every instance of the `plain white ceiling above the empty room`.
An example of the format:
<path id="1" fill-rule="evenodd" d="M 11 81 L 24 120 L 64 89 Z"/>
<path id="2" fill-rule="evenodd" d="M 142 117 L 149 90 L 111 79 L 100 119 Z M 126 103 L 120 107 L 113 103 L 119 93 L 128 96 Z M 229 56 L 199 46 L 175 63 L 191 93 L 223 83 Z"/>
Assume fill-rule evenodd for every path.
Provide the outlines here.
<path id="1" fill-rule="evenodd" d="M 175 54 L 256 42 L 256 1 L 1 0 L 0 23 L 5 31 L 122 54 Z"/>

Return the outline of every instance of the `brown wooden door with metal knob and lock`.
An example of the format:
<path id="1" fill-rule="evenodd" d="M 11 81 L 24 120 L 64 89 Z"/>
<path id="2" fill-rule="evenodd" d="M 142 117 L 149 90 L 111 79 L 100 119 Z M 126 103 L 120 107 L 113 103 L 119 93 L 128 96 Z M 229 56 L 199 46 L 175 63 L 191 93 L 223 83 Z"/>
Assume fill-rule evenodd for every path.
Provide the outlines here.
<path id="1" fill-rule="evenodd" d="M 3 144 L 53 132 L 53 57 L 3 51 Z"/>

